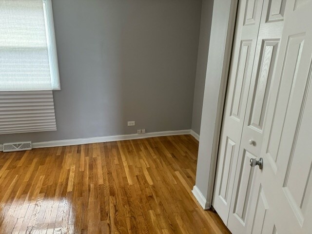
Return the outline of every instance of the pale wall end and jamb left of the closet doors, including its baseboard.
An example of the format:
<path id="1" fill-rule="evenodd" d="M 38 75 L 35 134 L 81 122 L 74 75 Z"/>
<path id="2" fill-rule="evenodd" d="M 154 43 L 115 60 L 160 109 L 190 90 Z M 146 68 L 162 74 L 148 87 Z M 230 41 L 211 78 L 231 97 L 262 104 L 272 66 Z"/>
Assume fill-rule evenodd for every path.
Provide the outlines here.
<path id="1" fill-rule="evenodd" d="M 214 0 L 196 182 L 192 191 L 205 210 L 212 204 L 237 5 L 238 0 Z"/>

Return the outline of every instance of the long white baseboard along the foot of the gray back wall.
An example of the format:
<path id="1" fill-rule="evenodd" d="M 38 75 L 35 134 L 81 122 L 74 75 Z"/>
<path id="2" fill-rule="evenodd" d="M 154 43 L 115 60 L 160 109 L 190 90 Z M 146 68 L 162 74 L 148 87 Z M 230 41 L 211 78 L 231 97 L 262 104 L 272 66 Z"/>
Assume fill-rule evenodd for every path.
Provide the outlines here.
<path id="1" fill-rule="evenodd" d="M 67 139 L 67 140 L 52 140 L 52 141 L 44 141 L 44 142 L 34 142 L 32 143 L 32 147 L 33 148 L 46 148 L 46 147 L 81 145 L 81 144 L 90 144 L 90 143 L 99 143 L 99 142 L 110 142 L 110 141 L 117 141 L 117 140 L 133 140 L 133 139 L 143 139 L 143 138 L 149 138 L 149 137 L 164 137 L 164 136 L 188 135 L 188 134 L 191 134 L 191 130 L 164 131 L 164 132 L 145 133 L 145 134 L 129 134 L 129 135 L 117 135 L 117 136 L 107 136 L 107 137 Z M 3 146 L 0 145 L 0 151 L 2 151 L 2 149 L 3 149 Z"/>

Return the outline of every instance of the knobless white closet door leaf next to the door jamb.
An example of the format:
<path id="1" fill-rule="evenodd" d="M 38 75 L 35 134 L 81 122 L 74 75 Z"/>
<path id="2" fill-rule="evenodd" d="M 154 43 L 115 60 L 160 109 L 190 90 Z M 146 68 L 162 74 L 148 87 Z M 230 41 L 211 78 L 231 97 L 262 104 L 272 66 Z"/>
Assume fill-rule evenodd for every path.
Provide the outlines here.
<path id="1" fill-rule="evenodd" d="M 262 0 L 241 0 L 238 6 L 213 199 L 213 206 L 225 224 L 230 211 L 262 4 Z"/>

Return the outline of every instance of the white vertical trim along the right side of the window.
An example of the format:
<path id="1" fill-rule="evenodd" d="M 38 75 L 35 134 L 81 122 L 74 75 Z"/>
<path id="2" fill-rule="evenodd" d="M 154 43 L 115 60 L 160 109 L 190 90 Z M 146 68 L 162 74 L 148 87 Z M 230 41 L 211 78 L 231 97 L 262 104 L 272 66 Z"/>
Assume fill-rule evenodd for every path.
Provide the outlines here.
<path id="1" fill-rule="evenodd" d="M 52 90 L 60 90 L 59 65 L 58 65 L 58 55 L 57 55 L 54 23 L 53 23 L 54 21 L 53 21 L 52 2 L 51 0 L 42 0 L 42 2 L 43 2 L 43 13 L 44 13 L 47 44 L 48 44 Z"/>

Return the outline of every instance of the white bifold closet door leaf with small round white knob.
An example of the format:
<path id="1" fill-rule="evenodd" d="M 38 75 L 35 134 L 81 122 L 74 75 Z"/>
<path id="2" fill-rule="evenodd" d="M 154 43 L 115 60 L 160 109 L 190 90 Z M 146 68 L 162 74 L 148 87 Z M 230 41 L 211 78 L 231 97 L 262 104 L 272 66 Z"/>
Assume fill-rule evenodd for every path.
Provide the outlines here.
<path id="1" fill-rule="evenodd" d="M 286 0 L 264 0 L 254 67 L 238 153 L 228 228 L 246 233 L 250 221 L 250 198 L 258 167 L 250 160 L 260 157 L 268 98 L 276 70 L 277 55 L 284 25 Z"/>

